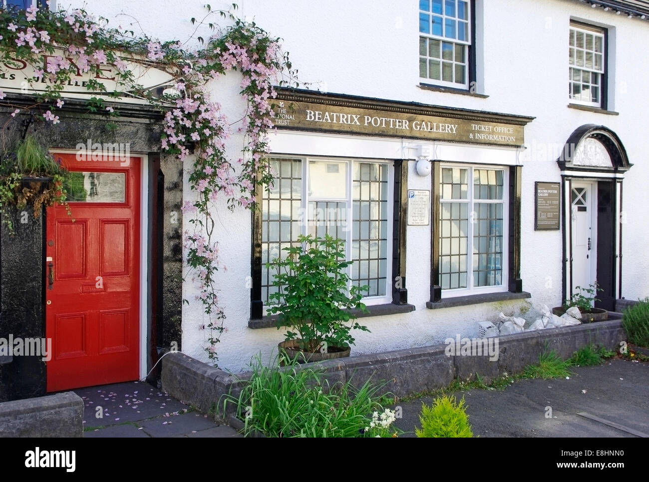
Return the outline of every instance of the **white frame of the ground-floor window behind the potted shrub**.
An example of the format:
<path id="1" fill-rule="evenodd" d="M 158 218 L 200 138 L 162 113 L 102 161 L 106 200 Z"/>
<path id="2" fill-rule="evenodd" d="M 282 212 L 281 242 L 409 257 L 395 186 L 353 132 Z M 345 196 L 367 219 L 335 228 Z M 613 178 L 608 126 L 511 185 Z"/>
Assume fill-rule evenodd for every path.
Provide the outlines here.
<path id="1" fill-rule="evenodd" d="M 392 253 L 393 253 L 393 242 L 392 242 L 392 233 L 393 233 L 393 204 L 394 204 L 394 167 L 393 161 L 386 159 L 362 159 L 362 158 L 343 158 L 343 157 L 314 157 L 314 156 L 300 156 L 300 155 L 273 155 L 270 154 L 270 157 L 273 159 L 290 159 L 290 160 L 300 160 L 302 161 L 302 199 L 301 199 L 301 209 L 302 213 L 308 212 L 309 203 L 313 202 L 344 202 L 347 206 L 347 223 L 348 229 L 345 231 L 345 259 L 352 260 L 352 206 L 354 202 L 353 196 L 353 165 L 354 162 L 365 162 L 371 164 L 384 164 L 387 166 L 388 179 L 387 179 L 387 249 L 386 249 L 386 279 L 385 279 L 385 290 L 386 294 L 382 296 L 365 296 L 362 299 L 362 302 L 367 306 L 372 305 L 382 305 L 385 303 L 392 303 Z M 345 163 L 346 164 L 346 188 L 347 196 L 343 198 L 339 197 L 312 197 L 309 196 L 309 167 L 310 162 L 336 162 L 336 163 Z M 308 220 L 302 220 L 300 222 L 300 234 L 308 234 Z M 351 277 L 352 275 L 352 265 L 347 267 L 347 274 Z M 264 311 L 270 307 L 267 305 L 265 299 L 262 299 L 264 303 Z"/>

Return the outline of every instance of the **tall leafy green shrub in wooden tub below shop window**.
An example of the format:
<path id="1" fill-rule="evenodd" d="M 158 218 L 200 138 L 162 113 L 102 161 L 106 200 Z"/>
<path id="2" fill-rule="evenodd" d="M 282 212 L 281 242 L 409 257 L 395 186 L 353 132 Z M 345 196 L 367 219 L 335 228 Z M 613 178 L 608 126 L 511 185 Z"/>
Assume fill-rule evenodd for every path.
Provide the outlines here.
<path id="1" fill-rule="evenodd" d="M 269 262 L 277 291 L 269 313 L 278 315 L 277 328 L 287 327 L 280 352 L 289 359 L 320 361 L 347 357 L 354 344 L 352 329 L 369 331 L 351 309 L 367 312 L 361 303 L 367 286 L 350 283 L 341 239 L 300 235 L 297 246 L 285 247 L 286 256 Z"/>

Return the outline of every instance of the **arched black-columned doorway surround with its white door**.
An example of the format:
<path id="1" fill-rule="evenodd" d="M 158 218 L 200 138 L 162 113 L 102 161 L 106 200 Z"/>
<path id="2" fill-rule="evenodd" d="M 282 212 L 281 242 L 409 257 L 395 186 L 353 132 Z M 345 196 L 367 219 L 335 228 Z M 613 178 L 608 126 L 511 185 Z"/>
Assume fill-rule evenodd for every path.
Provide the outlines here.
<path id="1" fill-rule="evenodd" d="M 598 284 L 595 307 L 622 298 L 622 181 L 633 164 L 608 127 L 574 130 L 557 159 L 563 186 L 563 299 Z"/>

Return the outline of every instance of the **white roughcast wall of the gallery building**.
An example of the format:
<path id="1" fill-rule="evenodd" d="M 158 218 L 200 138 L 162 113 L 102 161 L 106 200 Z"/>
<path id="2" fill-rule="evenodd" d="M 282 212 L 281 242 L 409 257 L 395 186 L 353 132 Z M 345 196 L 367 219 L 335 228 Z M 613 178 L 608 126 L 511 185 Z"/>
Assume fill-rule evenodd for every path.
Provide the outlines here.
<path id="1" fill-rule="evenodd" d="M 73 2 L 80 6 L 82 2 Z M 161 40 L 186 40 L 193 32 L 191 17 L 204 16 L 203 1 L 132 2 L 88 0 L 87 10 L 110 19 L 110 25 L 140 28 Z M 525 129 L 522 170 L 521 277 L 532 301 L 550 306 L 561 302 L 561 231 L 534 231 L 535 181 L 561 180 L 556 153 L 570 133 L 587 123 L 606 125 L 618 134 L 630 162 L 635 164 L 624 180 L 622 294 L 637 299 L 649 295 L 649 256 L 646 249 L 646 79 L 649 68 L 638 57 L 649 44 L 649 23 L 604 12 L 568 0 L 478 0 L 477 90 L 488 98 L 432 92 L 418 87 L 417 0 L 240 0 L 239 16 L 256 21 L 274 36 L 284 39 L 300 82 L 324 92 L 363 95 L 431 105 L 472 108 L 535 116 Z M 66 5 L 60 1 L 59 5 Z M 213 7 L 227 3 L 212 3 Z M 125 15 L 128 13 L 128 15 Z M 567 107 L 567 40 L 570 18 L 609 28 L 609 110 L 618 116 Z M 137 21 L 137 22 L 136 22 Z M 215 21 L 221 21 L 215 18 Z M 482 32 L 482 35 L 480 34 Z M 190 42 L 191 43 L 191 42 Z M 237 75 L 213 85 L 215 98 L 230 118 L 243 110 L 238 97 Z M 274 137 L 271 146 L 281 141 Z M 297 138 L 296 138 L 297 139 Z M 356 138 L 358 140 L 358 138 Z M 284 138 L 286 140 L 286 138 Z M 353 139 L 352 139 L 353 140 Z M 296 141 L 298 142 L 298 141 Z M 302 142 L 301 140 L 299 142 Z M 334 136 L 320 143 L 319 153 L 333 154 L 347 139 Z M 359 141 L 360 142 L 360 141 Z M 374 140 L 371 142 L 383 142 Z M 400 140 L 387 144 L 398 151 Z M 228 142 L 238 157 L 241 138 Z M 315 147 L 314 147 L 315 149 Z M 330 152 L 326 152 L 330 149 Z M 386 155 L 386 157 L 391 157 Z M 394 159 L 394 158 L 393 158 Z M 409 188 L 430 189 L 430 177 L 418 177 L 410 162 Z M 186 199 L 190 191 L 186 184 Z M 216 212 L 217 238 L 224 269 L 219 273 L 220 299 L 227 314 L 227 331 L 217 346 L 219 364 L 230 370 L 245 368 L 258 352 L 267 357 L 283 339 L 274 328 L 252 330 L 247 326 L 250 296 L 247 276 L 251 259 L 251 214 L 234 213 L 221 205 Z M 188 226 L 186 225 L 186 228 Z M 371 333 L 359 333 L 352 355 L 371 351 L 424 346 L 442 342 L 456 333 L 474 336 L 476 322 L 495 320 L 499 311 L 519 311 L 525 301 L 487 303 L 441 310 L 426 309 L 430 283 L 429 227 L 408 229 L 408 301 L 416 311 L 397 316 L 363 318 Z M 225 270 L 227 267 L 227 271 Z M 190 305 L 183 311 L 183 351 L 206 359 L 202 350 L 204 323 L 200 303 L 190 283 L 185 285 Z"/>

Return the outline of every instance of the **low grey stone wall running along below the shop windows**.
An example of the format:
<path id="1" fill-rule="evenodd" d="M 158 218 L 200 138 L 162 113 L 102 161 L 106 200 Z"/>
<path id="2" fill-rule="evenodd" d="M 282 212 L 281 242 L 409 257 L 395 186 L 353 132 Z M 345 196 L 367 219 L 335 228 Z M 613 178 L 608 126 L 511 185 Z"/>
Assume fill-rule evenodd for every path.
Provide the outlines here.
<path id="1" fill-rule="evenodd" d="M 609 320 L 499 336 L 498 356 L 493 361 L 489 361 L 489 356 L 447 356 L 447 345 L 441 344 L 330 360 L 319 366 L 326 370 L 330 383 L 350 381 L 358 387 L 369 378 L 387 381 L 385 391 L 402 397 L 437 390 L 454 378 L 472 379 L 476 374 L 488 383 L 493 377 L 515 374 L 538 362 L 544 351 L 555 350 L 567 359 L 588 344 L 615 350 L 625 339 L 622 322 Z M 230 375 L 181 353 L 171 353 L 162 359 L 165 392 L 201 411 L 214 412 L 221 421 L 227 420 L 234 409 L 228 404 L 227 412 L 223 411 L 225 395 L 236 396 L 239 381 L 250 376 L 251 372 Z"/>

